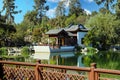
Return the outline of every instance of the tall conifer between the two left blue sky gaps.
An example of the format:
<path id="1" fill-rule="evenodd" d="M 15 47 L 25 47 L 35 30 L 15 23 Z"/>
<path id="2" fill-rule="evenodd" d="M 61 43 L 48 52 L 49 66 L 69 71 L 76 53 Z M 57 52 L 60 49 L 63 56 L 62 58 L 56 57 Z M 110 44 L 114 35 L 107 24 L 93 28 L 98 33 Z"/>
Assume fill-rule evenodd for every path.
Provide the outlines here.
<path id="1" fill-rule="evenodd" d="M 37 12 L 37 20 L 41 23 L 42 22 L 42 17 L 45 16 L 45 13 L 47 10 L 49 10 L 49 6 L 46 6 L 46 0 L 34 0 L 35 6 L 34 9 Z"/>

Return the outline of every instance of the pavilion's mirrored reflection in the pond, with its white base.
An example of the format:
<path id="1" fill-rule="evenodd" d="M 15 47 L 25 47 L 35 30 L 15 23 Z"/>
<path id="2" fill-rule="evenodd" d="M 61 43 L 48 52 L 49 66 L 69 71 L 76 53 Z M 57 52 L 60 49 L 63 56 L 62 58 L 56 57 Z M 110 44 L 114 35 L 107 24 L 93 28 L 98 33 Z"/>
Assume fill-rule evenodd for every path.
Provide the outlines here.
<path id="1" fill-rule="evenodd" d="M 49 55 L 48 53 L 37 53 L 37 54 L 39 55 L 36 55 L 36 57 L 37 58 L 42 57 L 42 60 L 43 60 L 43 57 L 45 58 L 45 56 L 48 57 Z M 48 64 L 83 67 L 84 65 L 82 64 L 82 57 L 83 56 L 76 55 L 75 52 L 50 53 Z"/>

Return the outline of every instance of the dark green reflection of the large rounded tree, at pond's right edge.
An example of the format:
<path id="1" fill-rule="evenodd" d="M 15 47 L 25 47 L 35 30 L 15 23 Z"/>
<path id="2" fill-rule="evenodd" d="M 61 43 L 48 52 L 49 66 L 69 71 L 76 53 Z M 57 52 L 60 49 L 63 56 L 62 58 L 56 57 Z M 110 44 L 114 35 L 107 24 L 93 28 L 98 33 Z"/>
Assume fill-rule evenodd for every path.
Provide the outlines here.
<path id="1" fill-rule="evenodd" d="M 94 55 L 93 61 L 97 63 L 98 68 L 120 69 L 120 53 L 113 51 L 99 52 Z"/>

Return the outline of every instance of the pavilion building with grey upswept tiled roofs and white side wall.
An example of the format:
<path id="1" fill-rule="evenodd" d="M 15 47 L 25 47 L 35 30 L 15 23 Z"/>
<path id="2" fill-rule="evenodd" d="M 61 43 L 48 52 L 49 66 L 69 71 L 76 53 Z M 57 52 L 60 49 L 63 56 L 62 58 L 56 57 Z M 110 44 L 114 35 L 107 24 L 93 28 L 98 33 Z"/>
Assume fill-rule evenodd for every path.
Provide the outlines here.
<path id="1" fill-rule="evenodd" d="M 88 30 L 82 25 L 70 25 L 66 28 L 52 29 L 46 34 L 56 39 L 59 46 L 83 46 L 83 38 Z"/>

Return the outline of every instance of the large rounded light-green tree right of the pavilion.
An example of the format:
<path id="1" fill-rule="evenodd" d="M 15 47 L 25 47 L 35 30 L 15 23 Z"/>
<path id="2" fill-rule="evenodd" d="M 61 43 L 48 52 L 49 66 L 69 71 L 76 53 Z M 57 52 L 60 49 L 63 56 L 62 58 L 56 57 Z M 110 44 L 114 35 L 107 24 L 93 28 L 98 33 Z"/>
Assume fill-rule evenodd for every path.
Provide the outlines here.
<path id="1" fill-rule="evenodd" d="M 117 23 L 116 16 L 110 13 L 99 13 L 91 17 L 86 23 L 90 31 L 84 39 L 85 44 L 92 43 L 94 47 L 102 50 L 108 49 L 110 45 L 117 43 L 116 38 L 118 38 L 118 35 L 115 31 Z"/>

